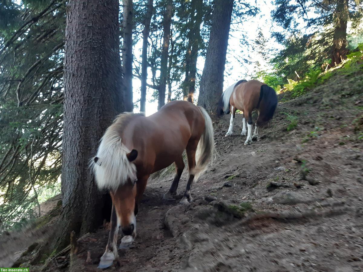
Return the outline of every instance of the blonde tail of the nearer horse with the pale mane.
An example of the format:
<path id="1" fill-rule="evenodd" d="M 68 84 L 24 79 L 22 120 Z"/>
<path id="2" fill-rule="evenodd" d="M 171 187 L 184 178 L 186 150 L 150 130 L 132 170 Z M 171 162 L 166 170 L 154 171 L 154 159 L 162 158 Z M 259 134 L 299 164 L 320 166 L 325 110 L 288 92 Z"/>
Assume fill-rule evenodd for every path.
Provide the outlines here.
<path id="1" fill-rule="evenodd" d="M 193 170 L 195 180 L 197 180 L 199 176 L 203 174 L 205 170 L 207 170 L 208 163 L 215 152 L 212 119 L 209 117 L 207 111 L 203 109 L 203 107 L 199 107 L 199 109 L 203 114 L 205 127 L 204 132 L 199 140 L 195 155 L 196 167 Z"/>

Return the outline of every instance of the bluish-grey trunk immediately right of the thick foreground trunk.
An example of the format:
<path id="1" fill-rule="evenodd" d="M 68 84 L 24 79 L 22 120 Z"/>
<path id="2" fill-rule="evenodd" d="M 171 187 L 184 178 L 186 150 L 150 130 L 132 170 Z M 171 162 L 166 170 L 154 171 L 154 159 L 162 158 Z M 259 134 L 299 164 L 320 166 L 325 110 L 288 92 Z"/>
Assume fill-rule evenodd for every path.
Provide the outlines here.
<path id="1" fill-rule="evenodd" d="M 123 0 L 122 72 L 125 110 L 132 111 L 132 0 Z"/>

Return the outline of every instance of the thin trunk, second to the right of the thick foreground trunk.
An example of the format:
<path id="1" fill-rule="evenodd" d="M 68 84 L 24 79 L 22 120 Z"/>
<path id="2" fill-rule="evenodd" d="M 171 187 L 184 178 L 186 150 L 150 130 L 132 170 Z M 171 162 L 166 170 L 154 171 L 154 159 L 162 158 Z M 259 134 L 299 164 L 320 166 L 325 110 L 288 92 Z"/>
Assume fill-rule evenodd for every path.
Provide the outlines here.
<path id="1" fill-rule="evenodd" d="M 152 16 L 153 0 L 148 0 L 147 12 L 144 23 L 144 30 L 142 32 L 142 64 L 141 64 L 141 98 L 140 98 L 140 111 L 145 112 L 146 105 L 146 80 L 147 80 L 147 47 L 148 37 L 150 33 L 150 22 Z"/>

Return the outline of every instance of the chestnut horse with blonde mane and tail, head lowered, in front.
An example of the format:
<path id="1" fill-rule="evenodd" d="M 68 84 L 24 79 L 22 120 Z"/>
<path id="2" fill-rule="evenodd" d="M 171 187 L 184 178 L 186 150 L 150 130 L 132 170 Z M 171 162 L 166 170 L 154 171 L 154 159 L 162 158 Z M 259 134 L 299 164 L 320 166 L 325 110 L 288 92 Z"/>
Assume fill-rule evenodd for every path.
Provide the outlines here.
<path id="1" fill-rule="evenodd" d="M 147 179 L 173 162 L 176 175 L 163 198 L 171 199 L 176 195 L 184 169 L 184 150 L 189 179 L 180 201 L 182 204 L 192 201 L 193 179 L 207 169 L 213 154 L 213 126 L 207 111 L 187 101 L 173 101 L 149 117 L 120 114 L 106 130 L 97 155 L 91 160 L 98 187 L 109 189 L 113 201 L 110 236 L 99 268 L 109 267 L 117 259 L 120 226 L 123 234 L 128 236 L 126 240 L 134 240 L 135 215 Z"/>

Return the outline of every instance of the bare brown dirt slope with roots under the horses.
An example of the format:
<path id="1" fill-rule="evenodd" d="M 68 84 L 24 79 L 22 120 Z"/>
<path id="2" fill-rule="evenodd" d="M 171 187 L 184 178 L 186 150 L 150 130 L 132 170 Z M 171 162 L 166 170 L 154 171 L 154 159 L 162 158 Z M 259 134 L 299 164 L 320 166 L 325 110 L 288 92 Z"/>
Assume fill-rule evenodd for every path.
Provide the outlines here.
<path id="1" fill-rule="evenodd" d="M 162 199 L 173 167 L 154 175 L 134 247 L 119 249 L 107 271 L 363 271 L 362 90 L 360 73 L 293 100 L 282 94 L 248 146 L 241 115 L 230 137 L 229 116 L 217 120 L 216 160 L 193 184 L 194 201 Z M 101 271 L 108 235 L 106 225 L 79 239 L 77 271 Z M 49 269 L 66 271 L 67 260 L 59 255 Z"/>

